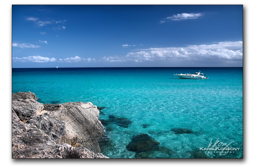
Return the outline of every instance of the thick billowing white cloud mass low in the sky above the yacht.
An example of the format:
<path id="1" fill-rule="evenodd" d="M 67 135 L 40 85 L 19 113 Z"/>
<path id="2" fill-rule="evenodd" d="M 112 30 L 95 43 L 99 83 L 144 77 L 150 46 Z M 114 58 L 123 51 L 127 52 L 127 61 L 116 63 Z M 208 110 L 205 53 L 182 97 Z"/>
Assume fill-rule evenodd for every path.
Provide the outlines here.
<path id="1" fill-rule="evenodd" d="M 219 42 L 210 45 L 189 45 L 187 47 L 165 47 L 143 49 L 148 55 L 160 58 L 207 59 L 207 60 L 234 60 L 243 59 L 243 42 Z M 133 56 L 140 55 L 142 51 L 135 52 Z"/>

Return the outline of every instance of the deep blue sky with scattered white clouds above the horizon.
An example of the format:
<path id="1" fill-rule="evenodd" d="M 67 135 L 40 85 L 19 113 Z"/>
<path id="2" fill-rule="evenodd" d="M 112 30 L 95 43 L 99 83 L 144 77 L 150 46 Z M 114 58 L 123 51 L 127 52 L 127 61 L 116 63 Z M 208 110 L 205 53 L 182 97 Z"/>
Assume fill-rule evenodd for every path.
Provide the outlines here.
<path id="1" fill-rule="evenodd" d="M 12 5 L 12 67 L 242 67 L 242 5 Z"/>

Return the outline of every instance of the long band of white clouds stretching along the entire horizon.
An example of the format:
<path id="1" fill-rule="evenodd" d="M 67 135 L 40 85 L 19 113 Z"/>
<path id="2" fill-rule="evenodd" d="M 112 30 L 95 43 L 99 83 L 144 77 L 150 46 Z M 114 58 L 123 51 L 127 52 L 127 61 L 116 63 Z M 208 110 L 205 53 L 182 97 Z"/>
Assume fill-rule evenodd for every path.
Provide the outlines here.
<path id="1" fill-rule="evenodd" d="M 13 43 L 13 46 L 16 43 Z M 129 52 L 126 56 L 109 56 L 102 57 L 98 60 L 95 58 L 81 58 L 79 56 L 57 60 L 41 56 L 28 56 L 23 58 L 12 58 L 20 62 L 147 62 L 147 61 L 190 61 L 190 60 L 224 60 L 236 61 L 243 59 L 243 42 L 242 41 L 224 41 L 213 44 L 188 45 L 187 47 L 163 47 L 136 49 Z"/>

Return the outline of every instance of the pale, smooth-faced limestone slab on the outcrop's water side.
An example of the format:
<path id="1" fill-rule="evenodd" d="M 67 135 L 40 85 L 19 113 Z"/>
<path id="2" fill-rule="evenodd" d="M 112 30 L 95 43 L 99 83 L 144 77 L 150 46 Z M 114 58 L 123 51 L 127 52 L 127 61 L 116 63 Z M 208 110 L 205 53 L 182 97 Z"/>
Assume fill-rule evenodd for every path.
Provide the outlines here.
<path id="1" fill-rule="evenodd" d="M 60 137 L 59 134 L 53 136 L 59 139 L 59 142 L 56 143 L 77 144 L 77 146 L 81 145 L 81 147 L 95 153 L 100 153 L 98 140 L 104 134 L 104 127 L 99 121 L 97 106 L 94 106 L 91 102 L 68 102 L 54 104 L 53 106 L 47 105 L 45 109 L 65 124 L 65 129 L 63 129 L 65 134 L 61 134 L 64 137 Z M 61 125 L 59 123 L 55 124 L 56 126 Z"/>

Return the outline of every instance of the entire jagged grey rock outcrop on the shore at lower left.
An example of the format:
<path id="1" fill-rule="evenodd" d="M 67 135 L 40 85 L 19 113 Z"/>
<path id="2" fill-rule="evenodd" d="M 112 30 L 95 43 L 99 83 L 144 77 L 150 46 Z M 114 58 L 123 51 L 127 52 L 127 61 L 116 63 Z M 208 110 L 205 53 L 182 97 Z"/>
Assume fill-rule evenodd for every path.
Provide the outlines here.
<path id="1" fill-rule="evenodd" d="M 12 158 L 108 158 L 104 127 L 91 102 L 45 104 L 31 92 L 12 94 Z"/>

